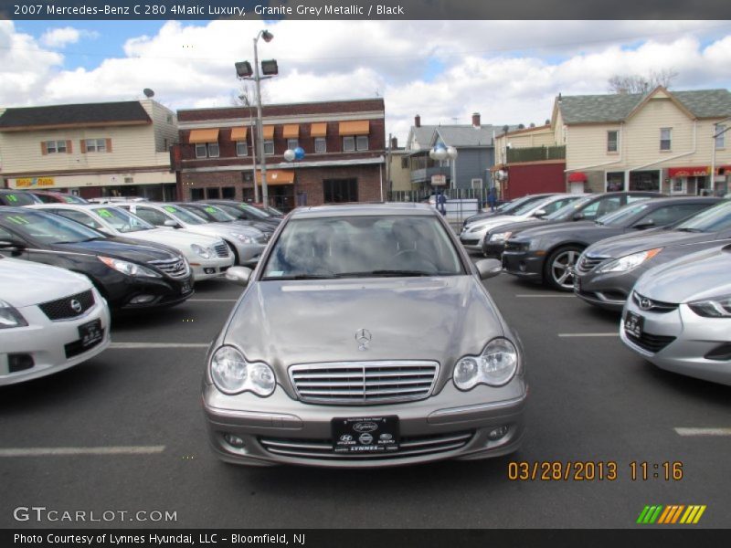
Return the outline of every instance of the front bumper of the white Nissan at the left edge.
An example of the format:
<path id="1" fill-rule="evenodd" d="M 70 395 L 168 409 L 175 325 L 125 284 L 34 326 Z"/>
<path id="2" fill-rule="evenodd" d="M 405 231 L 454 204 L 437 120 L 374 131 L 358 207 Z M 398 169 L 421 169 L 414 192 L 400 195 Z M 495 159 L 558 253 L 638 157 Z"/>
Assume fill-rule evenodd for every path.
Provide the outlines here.
<path id="1" fill-rule="evenodd" d="M 21 309 L 28 325 L 0 330 L 0 386 L 63 371 L 106 349 L 111 342 L 109 309 L 97 291 L 94 291 L 94 300 L 89 311 L 72 320 L 50 321 L 37 306 Z M 95 320 L 101 321 L 103 337 L 79 352 L 79 326 Z M 30 356 L 33 366 L 11 373 L 11 355 Z"/>

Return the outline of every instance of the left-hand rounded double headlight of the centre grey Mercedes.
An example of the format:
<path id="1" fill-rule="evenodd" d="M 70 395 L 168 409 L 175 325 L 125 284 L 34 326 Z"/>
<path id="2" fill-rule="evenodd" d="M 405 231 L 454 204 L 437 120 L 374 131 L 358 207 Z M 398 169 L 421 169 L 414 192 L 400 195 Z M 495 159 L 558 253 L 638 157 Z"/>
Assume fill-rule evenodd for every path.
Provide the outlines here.
<path id="1" fill-rule="evenodd" d="M 253 392 L 266 397 L 274 392 L 277 379 L 263 362 L 250 363 L 233 346 L 221 346 L 211 358 L 211 378 L 224 394 Z"/>

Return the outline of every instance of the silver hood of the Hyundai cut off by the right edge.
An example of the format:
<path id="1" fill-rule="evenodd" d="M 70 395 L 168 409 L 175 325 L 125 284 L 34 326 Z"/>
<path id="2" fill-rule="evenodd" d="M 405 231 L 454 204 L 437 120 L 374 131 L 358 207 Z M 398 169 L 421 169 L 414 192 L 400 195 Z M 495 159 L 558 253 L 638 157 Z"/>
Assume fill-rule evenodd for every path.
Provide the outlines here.
<path id="1" fill-rule="evenodd" d="M 689 302 L 731 295 L 731 246 L 710 248 L 645 272 L 635 290 L 664 302 Z"/>

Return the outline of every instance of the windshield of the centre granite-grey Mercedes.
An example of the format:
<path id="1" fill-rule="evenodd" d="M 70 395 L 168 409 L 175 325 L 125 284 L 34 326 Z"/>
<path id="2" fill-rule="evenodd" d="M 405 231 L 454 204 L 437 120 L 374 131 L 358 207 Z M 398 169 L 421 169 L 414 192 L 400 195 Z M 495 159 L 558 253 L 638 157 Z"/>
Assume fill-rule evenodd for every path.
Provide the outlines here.
<path id="1" fill-rule="evenodd" d="M 292 219 L 262 279 L 457 276 L 460 256 L 432 216 Z"/>

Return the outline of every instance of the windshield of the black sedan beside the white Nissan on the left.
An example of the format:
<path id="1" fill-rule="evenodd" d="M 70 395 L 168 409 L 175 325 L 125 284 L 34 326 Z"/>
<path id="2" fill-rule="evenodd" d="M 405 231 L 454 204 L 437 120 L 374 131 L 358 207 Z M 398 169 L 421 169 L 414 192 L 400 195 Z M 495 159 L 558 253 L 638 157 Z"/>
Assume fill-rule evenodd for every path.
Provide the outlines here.
<path id="1" fill-rule="evenodd" d="M 84 227 L 76 221 L 40 211 L 23 213 L 0 211 L 0 218 L 21 235 L 44 244 L 76 244 L 104 238 L 101 232 Z"/>

